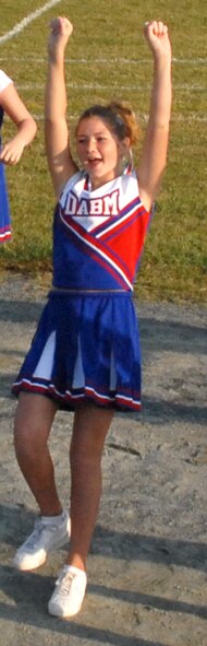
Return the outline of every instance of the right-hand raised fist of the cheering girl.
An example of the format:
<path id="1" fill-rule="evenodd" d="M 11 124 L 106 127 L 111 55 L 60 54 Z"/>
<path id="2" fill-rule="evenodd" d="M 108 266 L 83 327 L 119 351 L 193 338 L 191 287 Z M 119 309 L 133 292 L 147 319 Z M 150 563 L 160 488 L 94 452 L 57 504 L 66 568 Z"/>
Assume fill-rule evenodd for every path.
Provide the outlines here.
<path id="1" fill-rule="evenodd" d="M 144 34 L 156 59 L 161 56 L 171 57 L 171 45 L 167 25 L 161 21 L 145 23 Z"/>

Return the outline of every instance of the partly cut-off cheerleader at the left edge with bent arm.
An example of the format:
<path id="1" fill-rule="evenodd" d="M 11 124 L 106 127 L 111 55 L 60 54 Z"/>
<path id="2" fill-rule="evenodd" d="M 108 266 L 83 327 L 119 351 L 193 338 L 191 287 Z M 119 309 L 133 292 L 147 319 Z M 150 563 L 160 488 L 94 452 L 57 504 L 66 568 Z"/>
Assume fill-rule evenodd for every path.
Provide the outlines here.
<path id="1" fill-rule="evenodd" d="M 25 145 L 31 143 L 36 133 L 36 124 L 21 101 L 12 80 L 0 70 L 0 132 L 3 114 L 16 126 L 15 136 L 1 146 L 0 137 L 0 243 L 11 238 L 11 221 L 5 184 L 4 164 L 17 164 Z"/>

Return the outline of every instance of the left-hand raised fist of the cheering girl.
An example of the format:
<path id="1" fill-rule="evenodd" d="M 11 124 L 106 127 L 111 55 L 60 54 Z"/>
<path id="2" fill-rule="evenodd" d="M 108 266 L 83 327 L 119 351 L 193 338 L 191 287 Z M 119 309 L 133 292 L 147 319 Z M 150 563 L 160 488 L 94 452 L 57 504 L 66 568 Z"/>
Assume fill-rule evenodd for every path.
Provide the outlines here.
<path id="1" fill-rule="evenodd" d="M 51 57 L 58 51 L 64 51 L 66 43 L 73 32 L 73 25 L 68 17 L 58 16 L 50 23 L 50 36 L 48 40 L 48 51 Z"/>

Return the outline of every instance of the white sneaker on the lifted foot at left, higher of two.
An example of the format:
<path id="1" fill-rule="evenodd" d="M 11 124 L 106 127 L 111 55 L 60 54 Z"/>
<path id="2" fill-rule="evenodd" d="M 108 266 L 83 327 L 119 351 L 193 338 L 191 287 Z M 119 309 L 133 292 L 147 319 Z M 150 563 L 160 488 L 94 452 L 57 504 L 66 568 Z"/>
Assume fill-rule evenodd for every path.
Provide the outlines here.
<path id="1" fill-rule="evenodd" d="M 19 548 L 13 565 L 21 571 L 29 571 L 42 565 L 48 552 L 60 548 L 70 539 L 71 521 L 68 512 L 61 516 L 40 516 L 35 521 L 34 531 Z"/>

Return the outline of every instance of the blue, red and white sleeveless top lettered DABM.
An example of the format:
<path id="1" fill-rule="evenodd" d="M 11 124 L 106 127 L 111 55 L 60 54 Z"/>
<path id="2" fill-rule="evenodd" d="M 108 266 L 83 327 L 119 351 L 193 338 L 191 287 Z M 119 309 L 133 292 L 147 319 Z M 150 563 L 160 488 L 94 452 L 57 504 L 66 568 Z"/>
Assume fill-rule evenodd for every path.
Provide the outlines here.
<path id="1" fill-rule="evenodd" d="M 53 286 L 133 291 L 149 220 L 135 171 L 96 190 L 76 173 L 54 212 Z"/>

